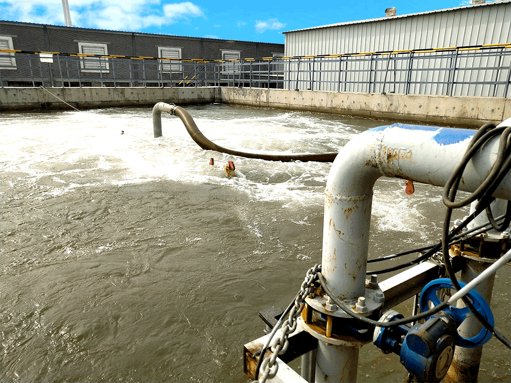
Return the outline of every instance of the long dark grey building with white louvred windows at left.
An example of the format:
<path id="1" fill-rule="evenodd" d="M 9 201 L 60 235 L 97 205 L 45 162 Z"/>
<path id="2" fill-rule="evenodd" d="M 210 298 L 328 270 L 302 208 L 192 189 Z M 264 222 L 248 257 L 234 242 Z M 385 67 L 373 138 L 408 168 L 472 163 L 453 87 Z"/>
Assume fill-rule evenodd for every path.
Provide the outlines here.
<path id="1" fill-rule="evenodd" d="M 34 73 L 40 73 L 41 78 L 58 78 L 60 75 L 67 79 L 52 84 L 57 86 L 77 86 L 78 82 L 82 86 L 97 85 L 98 79 L 111 78 L 112 74 L 118 80 L 113 86 L 140 86 L 142 80 L 143 85 L 154 86 L 150 82 L 157 80 L 161 86 L 175 86 L 180 80 L 192 78 L 194 73 L 195 78 L 200 73 L 206 84 L 213 84 L 213 78 L 220 83 L 222 77 L 227 77 L 229 69 L 236 70 L 236 64 L 226 63 L 215 75 L 213 65 L 206 67 L 202 64 L 199 68 L 200 61 L 282 57 L 284 54 L 284 44 L 4 20 L 0 21 L 0 49 L 21 51 L 0 54 L 0 75 L 4 86 L 37 85 L 39 82 L 34 80 Z M 44 60 L 44 55 L 34 56 L 34 52 L 60 55 L 50 55 L 48 60 Z M 102 84 L 112 86 L 108 82 Z"/>

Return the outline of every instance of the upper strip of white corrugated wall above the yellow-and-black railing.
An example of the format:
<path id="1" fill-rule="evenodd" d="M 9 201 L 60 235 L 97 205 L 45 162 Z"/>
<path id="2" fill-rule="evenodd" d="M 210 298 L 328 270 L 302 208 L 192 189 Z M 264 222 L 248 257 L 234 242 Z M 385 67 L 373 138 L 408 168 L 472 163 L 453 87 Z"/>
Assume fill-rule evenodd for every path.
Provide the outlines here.
<path id="1" fill-rule="evenodd" d="M 285 56 L 428 49 L 511 42 L 511 2 L 285 34 Z"/>

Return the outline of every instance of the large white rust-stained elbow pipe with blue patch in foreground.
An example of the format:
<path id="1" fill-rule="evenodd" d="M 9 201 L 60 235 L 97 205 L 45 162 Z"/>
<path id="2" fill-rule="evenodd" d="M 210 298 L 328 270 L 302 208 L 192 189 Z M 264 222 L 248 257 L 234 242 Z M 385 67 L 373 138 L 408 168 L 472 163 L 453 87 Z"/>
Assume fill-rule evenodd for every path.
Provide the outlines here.
<path id="1" fill-rule="evenodd" d="M 394 124 L 368 130 L 339 152 L 325 190 L 322 271 L 340 300 L 363 297 L 367 271 L 373 186 L 381 176 L 444 186 L 461 161 L 475 131 Z M 466 166 L 460 190 L 473 192 L 490 173 L 499 137 L 484 145 Z M 494 197 L 510 199 L 510 173 Z M 321 342 L 319 342 L 321 344 Z M 321 345 L 316 381 L 353 381 L 358 354 L 352 346 Z M 343 361 L 350 362 L 345 364 Z M 321 361 L 330 361 L 330 365 Z M 337 366 L 333 368 L 333 366 Z M 326 374 L 326 373 L 325 373 Z"/>

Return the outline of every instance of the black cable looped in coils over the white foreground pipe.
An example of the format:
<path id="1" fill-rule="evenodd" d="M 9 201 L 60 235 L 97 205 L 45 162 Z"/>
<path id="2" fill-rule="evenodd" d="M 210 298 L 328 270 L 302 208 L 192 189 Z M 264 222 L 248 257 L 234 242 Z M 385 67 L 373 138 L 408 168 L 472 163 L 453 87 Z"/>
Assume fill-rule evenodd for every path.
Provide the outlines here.
<path id="1" fill-rule="evenodd" d="M 486 130 L 491 129 L 489 132 Z M 492 169 L 490 170 L 490 174 L 484 179 L 475 192 L 473 192 L 469 197 L 455 202 L 457 189 L 459 183 L 461 181 L 464 168 L 466 167 L 469 160 L 472 159 L 476 150 L 478 150 L 487 140 L 492 138 L 497 134 L 501 134 L 500 142 L 499 142 L 499 150 L 497 154 L 497 159 L 495 160 Z M 460 285 L 458 280 L 456 279 L 456 275 L 452 270 L 452 264 L 449 257 L 449 227 L 451 222 L 452 210 L 456 207 L 466 206 L 469 203 L 478 200 L 475 207 L 474 213 L 471 216 L 476 216 L 482 210 L 486 210 L 487 207 L 490 206 L 490 203 L 493 202 L 493 198 L 491 195 L 495 192 L 495 189 L 499 186 L 500 182 L 507 175 L 510 170 L 511 162 L 509 160 L 509 136 L 511 135 L 511 128 L 496 128 L 493 124 L 486 124 L 482 126 L 469 143 L 469 147 L 466 153 L 463 156 L 460 164 L 457 166 L 456 170 L 453 172 L 449 181 L 446 183 L 443 193 L 444 204 L 447 206 L 446 217 L 444 220 L 443 227 L 443 236 L 442 236 L 442 252 L 444 256 L 444 264 L 446 267 L 447 275 L 451 280 L 452 285 L 454 286 L 456 291 L 460 290 Z M 484 187 L 482 187 L 484 186 Z M 506 211 L 506 216 L 509 211 Z M 504 223 L 508 220 L 506 217 L 504 219 Z M 501 226 L 504 226 L 503 224 Z M 458 226 L 458 228 L 461 227 Z M 467 297 L 462 297 L 463 303 L 470 309 L 472 314 L 482 323 L 482 325 L 489 331 L 491 331 L 495 337 L 502 342 L 505 346 L 511 349 L 511 342 L 507 340 L 494 326 L 492 326 L 488 321 L 474 308 L 472 303 Z"/>

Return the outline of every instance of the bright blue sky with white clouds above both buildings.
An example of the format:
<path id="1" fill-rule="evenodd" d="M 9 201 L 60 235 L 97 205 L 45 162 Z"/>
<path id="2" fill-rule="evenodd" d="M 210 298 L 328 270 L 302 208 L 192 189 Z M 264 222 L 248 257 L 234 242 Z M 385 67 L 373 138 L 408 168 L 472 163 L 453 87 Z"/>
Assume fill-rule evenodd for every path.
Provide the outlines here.
<path id="1" fill-rule="evenodd" d="M 470 0 L 68 0 L 73 27 L 284 43 L 281 32 L 470 5 Z M 0 0 L 0 18 L 65 25 L 61 0 Z"/>

